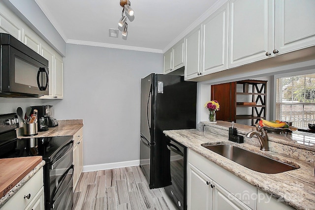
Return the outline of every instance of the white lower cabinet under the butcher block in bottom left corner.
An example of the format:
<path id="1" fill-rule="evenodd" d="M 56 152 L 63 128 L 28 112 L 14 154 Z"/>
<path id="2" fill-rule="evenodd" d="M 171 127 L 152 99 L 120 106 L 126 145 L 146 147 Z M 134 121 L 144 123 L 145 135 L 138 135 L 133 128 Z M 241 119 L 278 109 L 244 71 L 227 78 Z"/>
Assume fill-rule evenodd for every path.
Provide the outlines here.
<path id="1" fill-rule="evenodd" d="M 44 210 L 43 168 L 8 200 L 1 210 Z"/>

